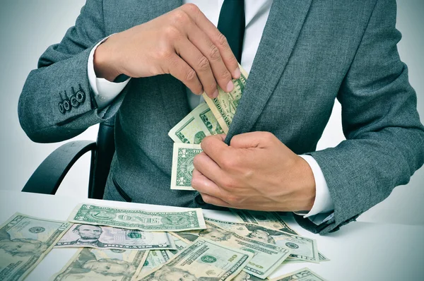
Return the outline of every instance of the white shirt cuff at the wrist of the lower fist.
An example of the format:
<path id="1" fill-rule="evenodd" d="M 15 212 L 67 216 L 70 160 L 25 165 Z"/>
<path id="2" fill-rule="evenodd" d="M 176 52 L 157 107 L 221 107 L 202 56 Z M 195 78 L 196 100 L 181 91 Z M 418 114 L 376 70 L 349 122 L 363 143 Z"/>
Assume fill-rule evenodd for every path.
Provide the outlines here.
<path id="1" fill-rule="evenodd" d="M 310 165 L 312 169 L 312 174 L 314 174 L 315 179 L 315 201 L 312 209 L 309 213 L 305 214 L 303 212 L 295 212 L 297 215 L 303 215 L 303 217 L 311 217 L 312 215 L 317 215 L 319 213 L 331 212 L 334 210 L 334 204 L 331 200 L 329 186 L 326 184 L 324 174 L 322 173 L 321 167 L 319 167 L 317 160 L 310 155 L 299 155 L 302 157 L 307 164 Z"/>

